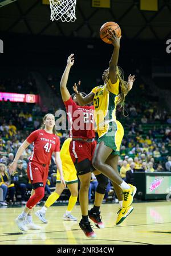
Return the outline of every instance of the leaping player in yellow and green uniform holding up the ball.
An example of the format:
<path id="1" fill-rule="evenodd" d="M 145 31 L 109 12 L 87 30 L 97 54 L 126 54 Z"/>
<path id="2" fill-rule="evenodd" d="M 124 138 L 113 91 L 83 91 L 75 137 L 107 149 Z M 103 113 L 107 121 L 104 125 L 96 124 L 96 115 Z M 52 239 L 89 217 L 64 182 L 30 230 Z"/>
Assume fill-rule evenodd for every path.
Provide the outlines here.
<path id="1" fill-rule="evenodd" d="M 76 98 L 80 105 L 93 102 L 95 107 L 95 121 L 99 139 L 93 155 L 93 166 L 107 176 L 114 186 L 119 199 L 120 209 L 116 225 L 120 224 L 132 212 L 131 206 L 136 187 L 127 184 L 117 170 L 120 155 L 120 145 L 124 136 L 123 126 L 116 119 L 116 107 L 124 106 L 125 96 L 132 89 L 135 76 L 129 75 L 128 82 L 124 81 L 123 72 L 117 66 L 120 50 L 120 38 L 115 36 L 115 31 L 109 31 L 108 36 L 114 46 L 109 68 L 103 72 L 103 86 L 97 86 L 85 97 L 74 85 Z"/>

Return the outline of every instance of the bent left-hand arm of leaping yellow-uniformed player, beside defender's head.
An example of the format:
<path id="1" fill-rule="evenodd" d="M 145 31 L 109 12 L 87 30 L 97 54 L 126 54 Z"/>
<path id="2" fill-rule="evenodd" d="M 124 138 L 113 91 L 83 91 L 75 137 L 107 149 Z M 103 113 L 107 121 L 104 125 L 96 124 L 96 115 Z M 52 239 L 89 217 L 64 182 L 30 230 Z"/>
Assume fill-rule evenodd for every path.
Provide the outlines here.
<path id="1" fill-rule="evenodd" d="M 78 82 L 78 85 L 80 86 L 80 81 Z M 76 83 L 74 84 L 74 86 L 72 87 L 75 95 L 76 95 L 76 100 L 78 101 L 78 104 L 80 106 L 84 106 L 87 105 L 89 103 L 92 103 L 93 98 L 94 98 L 94 94 L 93 92 L 90 92 L 88 95 L 86 95 L 85 97 L 83 97 L 82 95 L 80 95 L 79 91 L 78 91 L 78 86 L 76 85 Z"/>

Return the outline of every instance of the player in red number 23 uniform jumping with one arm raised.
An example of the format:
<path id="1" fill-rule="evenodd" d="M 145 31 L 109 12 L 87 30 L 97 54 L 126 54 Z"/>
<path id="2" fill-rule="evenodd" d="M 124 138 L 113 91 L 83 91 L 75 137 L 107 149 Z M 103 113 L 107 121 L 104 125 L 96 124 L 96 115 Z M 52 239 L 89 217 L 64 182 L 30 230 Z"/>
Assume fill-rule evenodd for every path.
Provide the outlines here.
<path id="1" fill-rule="evenodd" d="M 88 216 L 97 227 L 104 227 L 103 222 L 101 222 L 99 209 L 104 198 L 108 178 L 92 166 L 93 152 L 96 148 L 93 126 L 94 108 L 92 105 L 86 105 L 84 107 L 78 105 L 75 94 L 71 97 L 67 89 L 68 75 L 73 64 L 74 54 L 71 54 L 68 57 L 66 70 L 60 82 L 60 92 L 66 105 L 68 121 L 71 126 L 70 136 L 72 137 L 72 141 L 70 143 L 70 155 L 80 180 L 79 201 L 82 210 L 82 220 L 79 225 L 87 237 L 95 237 L 96 234 L 91 228 Z M 88 211 L 88 190 L 91 181 L 91 171 L 94 171 L 99 184 L 96 189 L 94 206 Z"/>

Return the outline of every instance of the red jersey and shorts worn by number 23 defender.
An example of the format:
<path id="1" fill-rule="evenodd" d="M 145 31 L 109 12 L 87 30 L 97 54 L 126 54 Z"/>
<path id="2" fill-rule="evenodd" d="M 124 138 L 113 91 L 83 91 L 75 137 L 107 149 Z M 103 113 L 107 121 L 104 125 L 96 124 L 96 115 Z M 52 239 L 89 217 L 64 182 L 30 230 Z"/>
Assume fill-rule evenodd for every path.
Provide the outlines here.
<path id="1" fill-rule="evenodd" d="M 64 101 L 66 105 L 68 121 L 70 123 L 70 155 L 74 164 L 88 159 L 92 162 L 93 152 L 95 151 L 95 130 L 94 130 L 94 107 L 80 107 L 70 96 L 70 99 Z M 78 120 L 79 119 L 79 120 Z M 85 143 L 89 140 L 89 143 Z M 88 166 L 87 172 L 90 168 Z M 79 170 L 78 170 L 79 173 Z M 83 173 L 83 170 L 81 170 Z M 85 174 L 86 172 L 84 172 Z"/>

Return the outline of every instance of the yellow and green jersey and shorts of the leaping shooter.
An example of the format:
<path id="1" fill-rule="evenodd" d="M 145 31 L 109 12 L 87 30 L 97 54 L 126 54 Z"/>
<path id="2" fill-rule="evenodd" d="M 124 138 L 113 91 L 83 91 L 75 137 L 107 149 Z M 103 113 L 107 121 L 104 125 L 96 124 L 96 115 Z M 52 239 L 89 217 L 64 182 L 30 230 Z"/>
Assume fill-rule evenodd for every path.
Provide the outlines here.
<path id="1" fill-rule="evenodd" d="M 104 86 L 97 86 L 92 90 L 95 95 L 93 105 L 95 107 L 95 121 L 99 139 L 97 143 L 104 141 L 104 145 L 113 149 L 112 155 L 120 155 L 120 145 L 124 136 L 124 128 L 116 120 L 116 106 L 119 99 L 119 79 L 112 84 L 109 79 Z"/>

